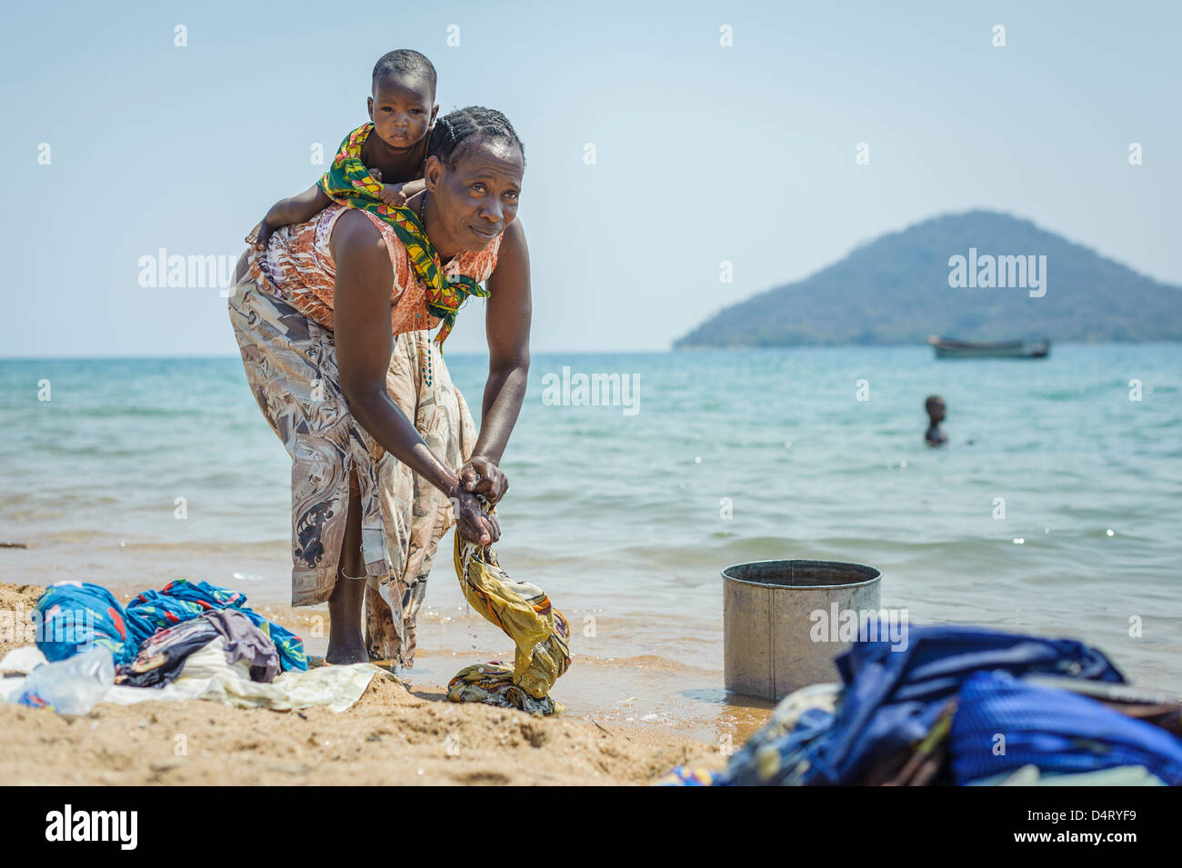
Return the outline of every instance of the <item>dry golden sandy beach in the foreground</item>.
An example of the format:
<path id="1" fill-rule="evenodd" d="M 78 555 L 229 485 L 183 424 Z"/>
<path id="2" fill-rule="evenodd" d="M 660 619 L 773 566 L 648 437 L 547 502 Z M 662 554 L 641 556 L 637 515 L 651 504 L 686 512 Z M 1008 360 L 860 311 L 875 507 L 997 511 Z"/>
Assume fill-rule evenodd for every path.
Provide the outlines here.
<path id="1" fill-rule="evenodd" d="M 0 585 L 0 611 L 43 588 Z M 0 642 L 0 657 L 17 647 Z M 0 705 L 0 783 L 647 784 L 716 745 L 656 726 L 531 717 L 459 705 L 439 688 L 374 679 L 348 711 L 275 712 L 207 700 L 103 704 L 69 719 Z"/>

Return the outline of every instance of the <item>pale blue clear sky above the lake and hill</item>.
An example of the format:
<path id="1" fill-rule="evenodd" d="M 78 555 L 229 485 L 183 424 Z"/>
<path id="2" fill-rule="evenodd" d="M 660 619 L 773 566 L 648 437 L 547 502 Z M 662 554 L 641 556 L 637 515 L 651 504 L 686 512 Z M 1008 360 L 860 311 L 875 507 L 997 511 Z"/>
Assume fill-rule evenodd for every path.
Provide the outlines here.
<path id="1" fill-rule="evenodd" d="M 525 143 L 534 352 L 667 350 L 974 208 L 1182 283 L 1182 4 L 51 0 L 0 17 L 0 357 L 236 355 L 219 288 L 142 286 L 143 257 L 236 259 L 324 171 L 317 145 L 331 157 L 366 119 L 374 63 L 400 47 L 435 64 L 441 113 L 499 109 Z M 483 350 L 482 305 L 449 352 Z"/>

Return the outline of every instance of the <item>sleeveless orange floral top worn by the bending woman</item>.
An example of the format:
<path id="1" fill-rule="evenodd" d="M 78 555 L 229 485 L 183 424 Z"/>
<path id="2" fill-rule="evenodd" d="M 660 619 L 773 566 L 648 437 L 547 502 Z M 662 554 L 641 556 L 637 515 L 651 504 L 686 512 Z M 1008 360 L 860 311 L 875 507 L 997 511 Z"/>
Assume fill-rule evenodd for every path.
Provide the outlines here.
<path id="1" fill-rule="evenodd" d="M 346 210 L 345 205 L 329 205 L 306 223 L 277 229 L 266 250 L 251 248 L 249 254 L 249 274 L 255 282 L 325 328 L 332 328 L 332 291 L 337 278 L 337 268 L 329 253 L 329 239 L 337 220 Z M 427 312 L 426 287 L 415 274 L 407 248 L 381 217 L 369 211 L 358 213 L 374 222 L 390 252 L 390 266 L 394 268 L 390 292 L 392 333 L 435 328 L 440 319 Z M 478 282 L 488 280 L 496 268 L 500 246 L 501 236 L 498 235 L 483 250 L 468 250 L 453 259 L 443 266 L 443 273 L 448 276 L 462 274 Z"/>

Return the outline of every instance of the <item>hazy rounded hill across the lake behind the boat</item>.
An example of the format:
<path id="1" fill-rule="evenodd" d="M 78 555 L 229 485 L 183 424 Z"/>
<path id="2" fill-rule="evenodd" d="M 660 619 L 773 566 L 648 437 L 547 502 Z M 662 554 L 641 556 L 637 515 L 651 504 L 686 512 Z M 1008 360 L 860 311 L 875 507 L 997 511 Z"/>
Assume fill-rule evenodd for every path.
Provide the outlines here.
<path id="1" fill-rule="evenodd" d="M 968 260 L 969 248 L 976 249 L 979 268 L 987 268 L 980 265 L 983 256 L 1034 255 L 1035 265 L 1046 256 L 1046 294 L 953 288 L 949 259 Z M 1000 270 L 1020 278 L 1017 267 Z M 1028 220 L 949 214 L 883 235 L 805 280 L 727 307 L 674 347 L 922 344 L 928 334 L 1182 340 L 1182 287 L 1137 274 Z"/>

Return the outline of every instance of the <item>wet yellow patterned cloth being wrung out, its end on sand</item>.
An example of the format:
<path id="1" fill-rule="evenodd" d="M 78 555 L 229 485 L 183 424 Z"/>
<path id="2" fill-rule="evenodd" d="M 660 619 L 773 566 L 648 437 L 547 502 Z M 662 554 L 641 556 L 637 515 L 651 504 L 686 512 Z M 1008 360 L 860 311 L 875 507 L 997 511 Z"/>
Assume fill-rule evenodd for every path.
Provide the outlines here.
<path id="1" fill-rule="evenodd" d="M 543 714 L 561 713 L 548 693 L 571 664 L 571 628 L 537 585 L 514 581 L 491 546 L 455 535 L 455 570 L 468 602 L 515 646 L 514 664 L 468 666 L 448 681 L 456 703 L 487 703 Z"/>

